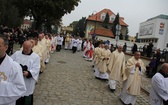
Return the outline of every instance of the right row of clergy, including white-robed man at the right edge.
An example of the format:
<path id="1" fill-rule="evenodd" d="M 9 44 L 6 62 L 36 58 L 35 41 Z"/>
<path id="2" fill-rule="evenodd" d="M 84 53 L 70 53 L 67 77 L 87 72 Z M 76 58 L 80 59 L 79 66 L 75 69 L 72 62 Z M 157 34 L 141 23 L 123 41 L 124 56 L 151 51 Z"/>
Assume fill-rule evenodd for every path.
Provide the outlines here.
<path id="1" fill-rule="evenodd" d="M 141 53 L 125 60 L 123 47 L 110 52 L 108 45 L 100 44 L 94 50 L 93 67 L 96 79 L 108 81 L 109 89 L 114 92 L 117 83 L 122 82 L 120 100 L 124 105 L 134 105 L 141 91 L 141 77 L 146 67 L 140 59 Z M 167 105 L 168 102 L 168 64 L 164 63 L 161 70 L 152 78 L 150 105 Z"/>

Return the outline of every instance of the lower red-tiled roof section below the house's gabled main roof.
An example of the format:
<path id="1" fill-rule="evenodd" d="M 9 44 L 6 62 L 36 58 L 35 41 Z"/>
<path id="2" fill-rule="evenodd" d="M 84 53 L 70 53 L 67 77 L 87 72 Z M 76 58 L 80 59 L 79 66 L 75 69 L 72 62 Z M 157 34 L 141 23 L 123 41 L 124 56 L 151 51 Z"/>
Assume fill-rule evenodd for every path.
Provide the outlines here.
<path id="1" fill-rule="evenodd" d="M 94 30 L 91 30 L 89 35 L 93 35 Z M 106 37 L 112 37 L 114 38 L 113 32 L 110 29 L 105 29 L 105 28 L 96 28 L 95 29 L 95 34 L 100 35 L 100 36 L 106 36 Z"/>

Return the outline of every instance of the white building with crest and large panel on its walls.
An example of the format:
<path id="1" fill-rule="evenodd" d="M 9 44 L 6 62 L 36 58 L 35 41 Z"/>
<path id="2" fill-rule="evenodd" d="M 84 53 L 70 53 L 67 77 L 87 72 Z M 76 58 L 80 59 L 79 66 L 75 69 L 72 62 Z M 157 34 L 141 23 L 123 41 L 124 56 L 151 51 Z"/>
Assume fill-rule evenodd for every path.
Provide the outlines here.
<path id="1" fill-rule="evenodd" d="M 168 15 L 159 15 L 140 23 L 138 39 L 141 43 L 152 41 L 155 48 L 168 51 Z"/>

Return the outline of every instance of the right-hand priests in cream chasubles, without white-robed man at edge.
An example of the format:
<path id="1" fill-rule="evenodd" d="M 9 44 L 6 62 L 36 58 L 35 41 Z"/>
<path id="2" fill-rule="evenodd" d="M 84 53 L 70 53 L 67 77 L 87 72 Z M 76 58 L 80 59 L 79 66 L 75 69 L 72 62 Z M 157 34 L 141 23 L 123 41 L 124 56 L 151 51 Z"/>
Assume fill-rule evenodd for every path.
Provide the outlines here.
<path id="1" fill-rule="evenodd" d="M 93 67 L 95 78 L 107 80 L 112 92 L 117 83 L 122 82 L 119 98 L 126 105 L 135 104 L 137 95 L 140 95 L 141 76 L 146 70 L 140 52 L 135 52 L 126 63 L 122 46 L 111 53 L 108 45 L 100 44 L 94 50 Z"/>

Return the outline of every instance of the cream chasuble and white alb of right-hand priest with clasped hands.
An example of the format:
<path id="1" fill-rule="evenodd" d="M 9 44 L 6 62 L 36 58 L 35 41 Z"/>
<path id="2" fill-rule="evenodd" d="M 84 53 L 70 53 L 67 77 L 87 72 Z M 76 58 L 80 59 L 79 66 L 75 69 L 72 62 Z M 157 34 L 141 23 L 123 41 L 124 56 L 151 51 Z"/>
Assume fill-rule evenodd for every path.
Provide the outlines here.
<path id="1" fill-rule="evenodd" d="M 140 63 L 141 68 L 135 67 L 136 63 Z M 136 60 L 135 57 L 130 58 L 126 64 L 126 77 L 123 82 L 123 89 L 119 98 L 125 104 L 134 105 L 136 96 L 141 91 L 141 76 L 145 73 L 146 68 L 141 59 Z"/>

